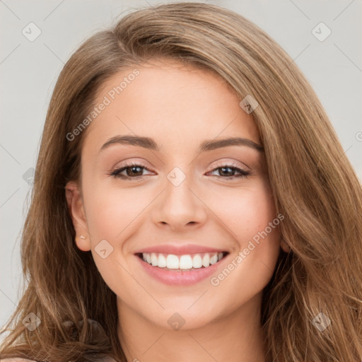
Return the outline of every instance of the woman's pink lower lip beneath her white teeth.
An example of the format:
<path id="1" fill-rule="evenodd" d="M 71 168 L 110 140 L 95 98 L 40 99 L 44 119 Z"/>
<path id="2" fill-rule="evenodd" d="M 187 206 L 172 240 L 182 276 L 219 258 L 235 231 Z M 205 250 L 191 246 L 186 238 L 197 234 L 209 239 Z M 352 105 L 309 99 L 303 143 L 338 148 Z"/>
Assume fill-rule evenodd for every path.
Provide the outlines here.
<path id="1" fill-rule="evenodd" d="M 220 264 L 228 257 L 226 255 L 219 262 L 210 265 L 207 268 L 199 268 L 190 271 L 170 271 L 158 267 L 153 267 L 151 264 L 144 262 L 139 256 L 135 255 L 139 262 L 141 263 L 141 267 L 144 268 L 149 275 L 153 276 L 153 278 L 161 281 L 164 284 L 168 285 L 177 285 L 177 286 L 185 286 L 190 284 L 197 284 L 199 281 L 206 279 L 211 274 L 214 274 Z"/>

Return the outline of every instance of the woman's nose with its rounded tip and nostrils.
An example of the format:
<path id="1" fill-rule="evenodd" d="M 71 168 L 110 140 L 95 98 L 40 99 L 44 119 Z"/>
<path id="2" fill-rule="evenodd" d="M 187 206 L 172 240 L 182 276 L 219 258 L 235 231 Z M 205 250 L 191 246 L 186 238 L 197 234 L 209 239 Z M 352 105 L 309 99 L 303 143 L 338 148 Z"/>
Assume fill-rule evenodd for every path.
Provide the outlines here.
<path id="1" fill-rule="evenodd" d="M 165 189 L 153 208 L 153 223 L 172 231 L 199 228 L 207 218 L 207 206 L 190 177 L 180 185 L 165 180 Z"/>

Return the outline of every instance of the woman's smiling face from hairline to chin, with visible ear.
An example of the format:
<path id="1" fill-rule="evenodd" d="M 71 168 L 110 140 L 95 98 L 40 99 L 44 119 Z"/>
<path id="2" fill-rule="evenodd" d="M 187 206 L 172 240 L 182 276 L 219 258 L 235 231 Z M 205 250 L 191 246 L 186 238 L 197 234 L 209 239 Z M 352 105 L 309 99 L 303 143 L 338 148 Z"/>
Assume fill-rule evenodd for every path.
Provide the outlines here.
<path id="1" fill-rule="evenodd" d="M 280 218 L 251 115 L 221 78 L 170 60 L 112 76 L 106 98 L 66 197 L 119 310 L 168 329 L 255 312 Z"/>

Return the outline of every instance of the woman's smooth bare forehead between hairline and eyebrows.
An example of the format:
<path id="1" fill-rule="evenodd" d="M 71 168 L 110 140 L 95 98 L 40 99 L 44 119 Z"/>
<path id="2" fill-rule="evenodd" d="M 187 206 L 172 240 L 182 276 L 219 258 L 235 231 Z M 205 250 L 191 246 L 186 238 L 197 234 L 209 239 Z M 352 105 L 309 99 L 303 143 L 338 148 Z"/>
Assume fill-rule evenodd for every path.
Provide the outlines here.
<path id="1" fill-rule="evenodd" d="M 136 76 L 134 74 L 137 74 Z M 153 59 L 119 71 L 98 91 L 107 103 L 87 129 L 86 144 L 99 148 L 112 136 L 137 134 L 169 146 L 195 146 L 218 136 L 259 143 L 251 115 L 226 81 L 212 71 Z"/>

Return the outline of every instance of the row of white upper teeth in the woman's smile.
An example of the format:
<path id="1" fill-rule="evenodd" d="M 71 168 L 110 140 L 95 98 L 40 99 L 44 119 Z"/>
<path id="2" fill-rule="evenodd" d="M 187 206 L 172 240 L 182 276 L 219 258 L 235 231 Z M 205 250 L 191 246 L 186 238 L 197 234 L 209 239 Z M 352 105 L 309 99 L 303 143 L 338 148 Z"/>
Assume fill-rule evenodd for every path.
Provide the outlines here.
<path id="1" fill-rule="evenodd" d="M 199 269 L 202 267 L 209 267 L 223 258 L 222 252 L 205 252 L 202 254 L 194 255 L 173 255 L 161 254 L 158 252 L 143 252 L 142 259 L 144 262 L 151 264 L 153 267 L 168 269 Z"/>

